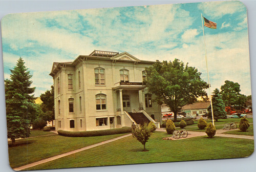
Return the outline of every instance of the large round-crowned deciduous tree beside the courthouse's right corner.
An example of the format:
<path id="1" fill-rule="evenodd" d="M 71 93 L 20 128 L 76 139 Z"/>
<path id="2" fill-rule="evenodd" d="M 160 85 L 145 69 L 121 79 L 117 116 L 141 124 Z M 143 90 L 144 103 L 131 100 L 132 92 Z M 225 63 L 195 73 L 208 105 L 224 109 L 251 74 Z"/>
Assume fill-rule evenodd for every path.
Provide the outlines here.
<path id="1" fill-rule="evenodd" d="M 148 91 L 156 95 L 159 104 L 166 104 L 174 112 L 175 121 L 182 106 L 207 96 L 204 89 L 208 84 L 200 78 L 201 73 L 179 59 L 157 61 L 153 67 L 146 68 L 146 75 Z"/>

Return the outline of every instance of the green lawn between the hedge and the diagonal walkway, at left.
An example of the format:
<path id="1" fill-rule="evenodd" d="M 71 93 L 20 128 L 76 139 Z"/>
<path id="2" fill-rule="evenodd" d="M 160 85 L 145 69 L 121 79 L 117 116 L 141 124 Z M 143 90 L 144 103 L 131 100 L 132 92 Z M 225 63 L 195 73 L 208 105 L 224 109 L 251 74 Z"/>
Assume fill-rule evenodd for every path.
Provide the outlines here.
<path id="1" fill-rule="evenodd" d="M 9 146 L 10 166 L 12 168 L 19 167 L 122 135 L 125 134 L 98 137 L 64 137 L 51 135 L 16 140 L 17 146 Z"/>

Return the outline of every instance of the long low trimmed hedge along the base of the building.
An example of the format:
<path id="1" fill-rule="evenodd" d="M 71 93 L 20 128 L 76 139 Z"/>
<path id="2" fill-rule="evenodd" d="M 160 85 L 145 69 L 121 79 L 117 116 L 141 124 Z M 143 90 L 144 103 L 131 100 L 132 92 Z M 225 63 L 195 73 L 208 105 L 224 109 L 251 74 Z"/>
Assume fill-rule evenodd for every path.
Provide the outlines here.
<path id="1" fill-rule="evenodd" d="M 122 128 L 114 128 L 109 130 L 96 130 L 96 131 L 82 131 L 82 132 L 70 132 L 64 130 L 58 130 L 60 136 L 67 137 L 92 137 L 92 136 L 106 136 L 122 133 L 131 133 L 132 127 L 124 126 Z"/>

